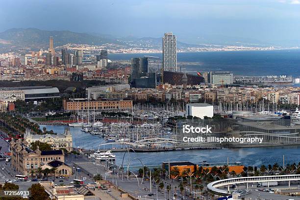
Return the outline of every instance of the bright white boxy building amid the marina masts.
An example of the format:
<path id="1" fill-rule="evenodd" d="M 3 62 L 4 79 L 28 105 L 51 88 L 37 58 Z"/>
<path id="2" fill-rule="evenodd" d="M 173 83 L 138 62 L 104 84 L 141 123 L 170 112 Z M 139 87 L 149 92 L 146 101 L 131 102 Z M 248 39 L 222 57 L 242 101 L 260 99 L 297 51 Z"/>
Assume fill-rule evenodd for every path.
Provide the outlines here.
<path id="1" fill-rule="evenodd" d="M 214 107 L 208 103 L 189 103 L 186 105 L 186 115 L 203 119 L 214 116 Z"/>

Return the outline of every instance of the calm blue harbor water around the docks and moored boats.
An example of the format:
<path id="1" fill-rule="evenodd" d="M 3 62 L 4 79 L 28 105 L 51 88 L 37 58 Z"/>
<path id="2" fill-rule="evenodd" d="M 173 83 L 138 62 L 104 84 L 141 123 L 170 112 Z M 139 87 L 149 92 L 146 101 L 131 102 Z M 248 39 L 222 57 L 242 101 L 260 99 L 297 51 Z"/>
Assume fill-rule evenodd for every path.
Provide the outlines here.
<path id="1" fill-rule="evenodd" d="M 66 126 L 64 125 L 40 125 L 41 129 L 46 126 L 47 130 L 53 130 L 62 134 Z M 73 147 L 87 150 L 99 149 L 99 144 L 103 141 L 99 135 L 91 135 L 81 131 L 81 127 L 70 127 L 73 136 Z M 102 149 L 103 147 L 101 147 Z M 121 164 L 125 154 L 124 162 L 128 161 L 128 153 L 114 152 L 116 163 Z M 277 162 L 279 165 L 300 162 L 300 147 L 277 147 L 277 148 L 245 148 L 245 149 L 215 149 L 215 150 L 176 150 L 163 152 L 130 152 L 130 165 L 160 165 L 162 162 L 170 161 L 190 161 L 199 164 L 202 161 L 207 162 L 230 162 L 240 161 L 249 166 L 273 165 Z M 141 160 L 141 161 L 140 161 Z"/>

